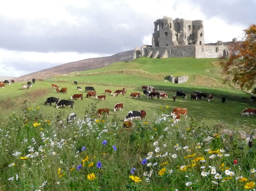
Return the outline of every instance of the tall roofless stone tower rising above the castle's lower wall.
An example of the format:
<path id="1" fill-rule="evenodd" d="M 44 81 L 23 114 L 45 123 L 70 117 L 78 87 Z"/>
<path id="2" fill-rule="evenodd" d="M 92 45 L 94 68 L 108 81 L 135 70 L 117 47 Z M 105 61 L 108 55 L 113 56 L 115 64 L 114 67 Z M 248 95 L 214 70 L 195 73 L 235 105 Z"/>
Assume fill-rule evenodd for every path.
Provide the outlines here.
<path id="1" fill-rule="evenodd" d="M 184 19 L 160 18 L 154 22 L 152 47 L 173 45 L 204 45 L 203 21 L 186 21 Z"/>

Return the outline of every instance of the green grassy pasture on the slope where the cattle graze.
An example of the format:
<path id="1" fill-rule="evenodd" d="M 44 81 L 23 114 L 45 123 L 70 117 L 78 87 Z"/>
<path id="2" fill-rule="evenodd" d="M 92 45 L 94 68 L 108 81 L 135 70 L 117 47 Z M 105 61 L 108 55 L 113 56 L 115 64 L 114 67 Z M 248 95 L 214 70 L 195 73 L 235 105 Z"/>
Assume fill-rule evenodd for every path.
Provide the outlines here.
<path id="1" fill-rule="evenodd" d="M 146 118 L 145 121 L 152 122 L 156 118 L 156 113 L 160 108 L 166 108 L 167 114 L 171 113 L 174 107 L 188 108 L 188 119 L 191 117 L 197 117 L 201 115 L 202 118 L 206 120 L 207 125 L 213 126 L 216 124 L 221 124 L 225 127 L 239 128 L 241 126 L 255 124 L 255 118 L 253 116 L 241 116 L 240 112 L 245 108 L 254 108 L 255 103 L 250 102 L 250 95 L 246 94 L 239 89 L 235 89 L 228 84 L 225 84 L 225 88 L 214 86 L 215 84 L 208 84 L 208 86 L 191 85 L 193 84 L 194 78 L 190 79 L 188 82 L 181 84 L 174 84 L 170 81 L 164 79 L 154 80 L 149 76 L 152 73 L 183 73 L 183 75 L 202 75 L 207 77 L 214 77 L 215 72 L 209 72 L 218 70 L 219 66 L 212 64 L 216 59 L 193 59 L 193 58 L 170 58 L 170 59 L 151 59 L 151 58 L 140 58 L 133 62 L 117 62 L 113 63 L 105 68 L 80 72 L 79 75 L 71 73 L 65 76 L 57 76 L 49 78 L 46 81 L 37 80 L 35 84 L 32 84 L 30 89 L 22 89 L 22 83 L 20 82 L 7 85 L 5 88 L 0 89 L 1 93 L 1 115 L 6 118 L 12 112 L 19 113 L 21 103 L 24 100 L 30 103 L 33 107 L 40 107 L 42 111 L 47 114 L 55 116 L 59 111 L 64 112 L 64 116 L 69 113 L 76 113 L 78 118 L 84 118 L 85 112 L 90 110 L 92 105 L 96 105 L 95 108 L 110 108 L 110 117 L 107 121 L 111 121 L 113 118 L 117 118 L 118 122 L 121 124 L 130 110 L 145 110 Z M 131 67 L 129 67 L 131 66 Z M 135 70 L 133 74 L 121 74 L 121 73 L 106 73 L 107 71 L 113 70 L 126 71 Z M 143 71 L 138 72 L 136 71 Z M 98 73 L 96 73 L 98 72 Z M 105 72 L 105 73 L 104 73 Z M 94 73 L 94 75 L 88 75 L 89 73 Z M 104 74 L 102 74 L 104 73 Z M 126 72 L 129 73 L 129 72 Z M 100 75 L 101 74 L 101 75 Z M 147 74 L 149 76 L 147 76 Z M 165 76 L 165 75 L 162 75 Z M 221 76 L 219 74 L 219 76 Z M 76 89 L 74 85 L 74 80 L 78 81 L 78 86 L 80 86 L 83 91 L 80 92 Z M 221 79 L 218 78 L 218 81 Z M 51 89 L 51 84 L 58 84 L 60 88 L 68 88 L 67 94 L 57 93 L 55 89 Z M 202 82 L 202 84 L 207 84 L 207 82 Z M 209 82 L 210 83 L 210 82 Z M 156 91 L 165 91 L 169 94 L 168 99 L 147 99 L 143 96 L 142 85 L 154 86 Z M 222 86 L 223 83 L 219 83 Z M 127 88 L 127 93 L 125 96 L 113 97 L 112 95 L 107 95 L 106 101 L 98 101 L 94 97 L 86 98 L 85 86 L 94 86 L 97 95 L 102 95 L 105 89 L 111 89 L 114 92 L 117 89 Z M 176 94 L 176 91 L 184 91 L 187 94 L 188 99 L 182 99 L 178 97 L 176 102 L 172 100 L 172 95 Z M 202 98 L 202 100 L 192 101 L 190 99 L 190 94 L 195 91 L 205 92 L 207 94 L 212 94 L 214 96 L 213 100 L 208 103 L 207 99 Z M 130 93 L 141 92 L 141 99 L 129 98 Z M 55 104 L 52 107 L 44 102 L 48 97 L 59 97 L 60 99 L 70 99 L 71 95 L 83 93 L 84 100 L 78 99 L 74 100 L 74 109 L 69 109 L 68 107 L 55 108 Z M 11 95 L 11 96 L 10 96 Z M 226 103 L 221 102 L 221 98 L 225 96 Z M 113 112 L 113 107 L 116 103 L 122 102 L 124 104 L 124 110 Z M 187 120 L 188 120 L 187 119 Z M 63 119 L 66 120 L 66 119 Z M 181 119 L 181 124 L 186 124 L 184 118 Z"/>

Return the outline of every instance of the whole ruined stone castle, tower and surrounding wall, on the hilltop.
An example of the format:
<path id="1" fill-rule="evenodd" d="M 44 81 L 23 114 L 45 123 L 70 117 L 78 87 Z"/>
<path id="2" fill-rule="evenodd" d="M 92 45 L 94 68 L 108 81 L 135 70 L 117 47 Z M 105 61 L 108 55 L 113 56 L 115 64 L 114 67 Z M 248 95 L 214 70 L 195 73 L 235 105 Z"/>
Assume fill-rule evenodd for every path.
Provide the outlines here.
<path id="1" fill-rule="evenodd" d="M 233 42 L 236 38 L 233 39 Z M 141 56 L 151 58 L 193 57 L 219 58 L 227 57 L 228 45 L 232 42 L 204 44 L 203 21 L 187 21 L 167 16 L 154 22 L 152 45 L 135 48 L 134 59 Z"/>

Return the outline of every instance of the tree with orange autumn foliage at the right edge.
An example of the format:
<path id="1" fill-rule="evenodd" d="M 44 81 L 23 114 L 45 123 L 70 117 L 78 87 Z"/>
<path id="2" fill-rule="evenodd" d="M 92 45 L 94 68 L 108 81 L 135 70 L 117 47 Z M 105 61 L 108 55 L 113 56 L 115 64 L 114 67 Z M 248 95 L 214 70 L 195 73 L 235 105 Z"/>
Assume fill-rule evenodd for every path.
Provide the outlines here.
<path id="1" fill-rule="evenodd" d="M 233 42 L 229 47 L 229 58 L 220 60 L 226 81 L 239 84 L 241 89 L 252 89 L 256 93 L 256 25 L 251 24 L 244 30 L 242 42 Z"/>

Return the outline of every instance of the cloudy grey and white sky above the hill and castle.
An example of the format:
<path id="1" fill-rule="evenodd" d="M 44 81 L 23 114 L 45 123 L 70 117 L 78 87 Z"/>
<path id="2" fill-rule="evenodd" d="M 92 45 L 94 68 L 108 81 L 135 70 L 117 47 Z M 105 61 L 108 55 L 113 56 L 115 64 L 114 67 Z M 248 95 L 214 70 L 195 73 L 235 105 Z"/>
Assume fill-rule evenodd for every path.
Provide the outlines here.
<path id="1" fill-rule="evenodd" d="M 256 0 L 8 0 L 0 2 L 0 76 L 18 77 L 151 45 L 164 16 L 203 20 L 204 43 L 241 38 Z"/>

